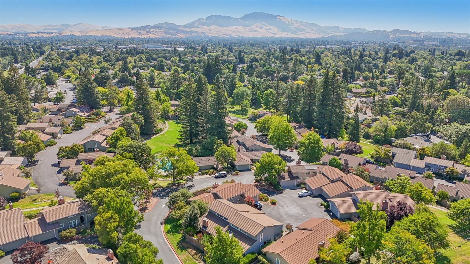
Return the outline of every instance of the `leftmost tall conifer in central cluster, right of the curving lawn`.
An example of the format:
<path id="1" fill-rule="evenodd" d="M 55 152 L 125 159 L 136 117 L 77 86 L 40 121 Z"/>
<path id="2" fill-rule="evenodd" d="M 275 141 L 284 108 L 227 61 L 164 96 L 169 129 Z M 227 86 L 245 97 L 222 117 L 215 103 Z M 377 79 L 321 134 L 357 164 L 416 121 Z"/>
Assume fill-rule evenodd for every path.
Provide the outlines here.
<path id="1" fill-rule="evenodd" d="M 193 144 L 199 134 L 199 124 L 197 122 L 197 102 L 199 95 L 193 79 L 188 77 L 188 81 L 183 85 L 181 92 L 180 114 L 181 130 L 180 142 Z"/>

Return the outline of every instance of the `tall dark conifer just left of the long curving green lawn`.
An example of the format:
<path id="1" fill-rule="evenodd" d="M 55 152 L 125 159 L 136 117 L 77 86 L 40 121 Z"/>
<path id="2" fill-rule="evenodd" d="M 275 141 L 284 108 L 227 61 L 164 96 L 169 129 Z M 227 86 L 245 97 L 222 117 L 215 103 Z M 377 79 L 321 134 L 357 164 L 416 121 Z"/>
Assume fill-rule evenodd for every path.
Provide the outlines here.
<path id="1" fill-rule="evenodd" d="M 133 104 L 135 112 L 144 118 L 141 133 L 145 135 L 153 134 L 157 128 L 156 105 L 155 101 L 150 96 L 149 84 L 144 78 L 139 78 L 135 84 L 135 98 Z"/>

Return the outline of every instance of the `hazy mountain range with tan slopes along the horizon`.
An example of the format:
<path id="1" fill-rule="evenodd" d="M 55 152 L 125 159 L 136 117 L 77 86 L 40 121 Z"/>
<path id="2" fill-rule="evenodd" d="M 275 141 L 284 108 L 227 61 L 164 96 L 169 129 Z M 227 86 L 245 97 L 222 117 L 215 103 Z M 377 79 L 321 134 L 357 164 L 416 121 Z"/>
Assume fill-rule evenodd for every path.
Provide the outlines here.
<path id="1" fill-rule="evenodd" d="M 387 40 L 391 38 L 470 38 L 467 33 L 412 32 L 409 30 L 368 31 L 364 28 L 322 26 L 285 16 L 253 12 L 240 18 L 213 15 L 199 18 L 184 25 L 158 23 L 128 28 L 111 28 L 86 23 L 60 25 L 4 24 L 0 34 L 26 34 L 29 36 L 113 36 L 121 38 L 159 37 L 288 37 L 332 38 L 351 40 Z"/>

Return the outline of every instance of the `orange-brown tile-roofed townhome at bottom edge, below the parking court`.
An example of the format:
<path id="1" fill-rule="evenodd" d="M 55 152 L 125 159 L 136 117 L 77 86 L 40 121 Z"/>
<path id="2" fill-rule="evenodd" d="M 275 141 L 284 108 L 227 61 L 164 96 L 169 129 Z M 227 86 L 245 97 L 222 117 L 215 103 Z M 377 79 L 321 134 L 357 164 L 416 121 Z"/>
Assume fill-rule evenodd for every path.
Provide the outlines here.
<path id="1" fill-rule="evenodd" d="M 320 248 L 329 247 L 329 239 L 339 228 L 324 218 L 310 218 L 293 232 L 263 248 L 266 258 L 273 264 L 308 264 L 319 257 Z"/>

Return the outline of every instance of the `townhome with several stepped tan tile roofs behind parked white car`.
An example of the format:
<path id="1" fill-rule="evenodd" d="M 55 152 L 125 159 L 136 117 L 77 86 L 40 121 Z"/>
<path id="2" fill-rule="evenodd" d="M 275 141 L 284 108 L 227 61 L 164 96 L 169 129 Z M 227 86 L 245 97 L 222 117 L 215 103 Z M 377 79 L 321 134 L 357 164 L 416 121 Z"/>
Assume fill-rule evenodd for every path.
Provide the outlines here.
<path id="1" fill-rule="evenodd" d="M 349 197 L 350 192 L 373 190 L 374 187 L 359 176 L 324 166 L 320 168 L 319 174 L 305 180 L 305 189 L 313 195 L 322 195 L 329 199 Z"/>

